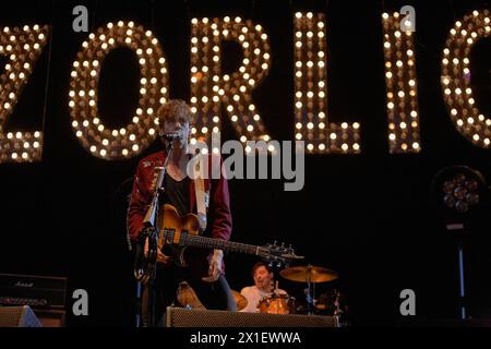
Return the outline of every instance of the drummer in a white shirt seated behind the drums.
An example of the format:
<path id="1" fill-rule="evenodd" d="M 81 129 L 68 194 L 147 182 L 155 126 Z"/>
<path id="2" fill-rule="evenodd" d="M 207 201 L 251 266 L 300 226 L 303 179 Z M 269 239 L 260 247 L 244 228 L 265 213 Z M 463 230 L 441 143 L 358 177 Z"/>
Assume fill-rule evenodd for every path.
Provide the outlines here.
<path id="1" fill-rule="evenodd" d="M 264 262 L 258 262 L 252 267 L 252 278 L 254 286 L 244 287 L 240 293 L 248 300 L 248 305 L 240 310 L 241 312 L 259 313 L 259 304 L 266 297 L 276 294 L 287 294 L 285 290 L 275 289 L 273 284 L 274 274 L 270 265 Z"/>

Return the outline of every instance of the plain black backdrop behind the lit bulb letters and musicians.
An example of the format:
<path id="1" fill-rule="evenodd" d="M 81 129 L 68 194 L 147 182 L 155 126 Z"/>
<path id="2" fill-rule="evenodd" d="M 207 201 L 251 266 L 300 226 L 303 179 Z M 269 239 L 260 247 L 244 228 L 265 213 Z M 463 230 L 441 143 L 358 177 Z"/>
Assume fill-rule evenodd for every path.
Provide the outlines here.
<path id="1" fill-rule="evenodd" d="M 141 156 L 107 161 L 88 154 L 74 136 L 68 108 L 71 64 L 86 33 L 72 31 L 72 9 L 85 4 L 89 31 L 109 21 L 133 20 L 151 28 L 168 61 L 170 97 L 190 98 L 190 19 L 240 15 L 261 23 L 272 45 L 272 69 L 253 92 L 276 140 L 294 130 L 292 15 L 323 11 L 327 17 L 328 115 L 359 121 L 360 155 L 309 155 L 306 185 L 284 192 L 282 181 L 229 182 L 232 240 L 292 243 L 307 262 L 340 274 L 333 285 L 348 299 L 354 325 L 405 324 L 456 318 L 455 240 L 431 203 L 431 181 L 442 168 L 467 165 L 491 176 L 490 154 L 454 128 L 442 99 L 440 62 L 453 23 L 487 1 L 15 1 L 0 13 L 0 26 L 49 24 L 44 50 L 9 123 L 9 130 L 45 132 L 43 161 L 0 165 L 0 273 L 64 276 L 72 290 L 89 294 L 88 316 L 72 326 L 131 326 L 132 255 L 125 240 L 125 195 Z M 420 154 L 391 155 L 387 145 L 381 13 L 411 4 L 417 14 L 416 58 L 421 124 Z M 3 4 L 2 4 L 3 5 Z M 472 87 L 480 110 L 490 113 L 490 45 L 471 53 Z M 235 70 L 240 51 L 224 52 Z M 122 125 L 136 107 L 133 56 L 112 52 L 104 62 L 99 108 L 107 125 Z M 133 68 L 132 68 L 133 67 Z M 236 135 L 227 122 L 223 140 Z M 491 316 L 489 206 L 466 238 L 469 313 Z M 229 254 L 227 275 L 240 290 L 251 284 L 254 257 Z M 303 285 L 279 278 L 301 300 Z M 417 316 L 399 314 L 399 292 L 416 292 Z M 69 310 L 72 300 L 68 300 Z M 69 311 L 70 313 L 70 311 Z"/>

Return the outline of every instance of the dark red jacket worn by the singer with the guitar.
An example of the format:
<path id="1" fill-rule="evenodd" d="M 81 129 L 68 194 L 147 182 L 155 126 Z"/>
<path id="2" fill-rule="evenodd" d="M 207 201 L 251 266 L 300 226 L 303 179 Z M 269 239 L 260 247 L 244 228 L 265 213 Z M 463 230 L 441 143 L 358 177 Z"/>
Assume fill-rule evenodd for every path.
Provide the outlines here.
<path id="1" fill-rule="evenodd" d="M 164 166 L 165 159 L 166 153 L 164 151 L 151 154 L 140 161 L 136 169 L 128 209 L 128 230 L 133 241 L 139 238 L 143 227 L 143 218 L 152 203 L 154 185 L 158 176 L 158 171 L 155 168 Z M 212 173 L 211 156 L 208 156 L 208 173 Z M 196 198 L 194 181 L 190 180 L 189 183 L 189 209 L 195 213 Z M 227 180 L 224 176 L 220 176 L 220 179 L 205 179 L 204 186 L 206 192 L 209 191 L 206 230 L 211 231 L 212 238 L 229 240 L 232 222 Z"/>

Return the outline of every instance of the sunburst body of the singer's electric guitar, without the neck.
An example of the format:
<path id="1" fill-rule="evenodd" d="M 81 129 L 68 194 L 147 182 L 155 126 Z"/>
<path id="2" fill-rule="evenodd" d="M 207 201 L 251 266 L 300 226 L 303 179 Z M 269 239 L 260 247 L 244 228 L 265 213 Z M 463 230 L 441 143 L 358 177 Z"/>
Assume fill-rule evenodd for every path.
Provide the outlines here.
<path id="1" fill-rule="evenodd" d="M 185 266 L 185 250 L 181 237 L 199 236 L 200 222 L 194 214 L 180 216 L 169 204 L 160 206 L 157 219 L 158 249 L 179 266 Z M 167 233 L 165 233 L 167 232 Z"/>

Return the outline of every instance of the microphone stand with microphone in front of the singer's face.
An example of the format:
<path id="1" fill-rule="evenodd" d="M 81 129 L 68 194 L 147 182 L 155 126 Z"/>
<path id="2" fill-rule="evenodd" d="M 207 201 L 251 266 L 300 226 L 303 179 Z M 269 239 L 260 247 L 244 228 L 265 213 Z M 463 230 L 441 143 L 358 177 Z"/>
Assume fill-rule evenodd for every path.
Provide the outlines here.
<path id="1" fill-rule="evenodd" d="M 157 227 L 157 217 L 158 217 L 158 202 L 159 195 L 165 191 L 163 186 L 164 178 L 167 170 L 167 164 L 169 158 L 172 156 L 173 142 L 168 142 L 167 146 L 167 157 L 164 161 L 164 166 L 159 169 L 158 178 L 155 185 L 154 196 L 152 198 L 152 203 L 143 218 L 144 229 L 142 231 L 141 241 L 140 241 L 140 253 L 136 253 L 136 262 L 135 261 L 135 277 L 137 280 L 136 285 L 136 294 L 141 296 L 141 284 L 148 285 L 148 297 L 147 297 L 147 326 L 155 326 L 155 313 L 154 313 L 154 302 L 155 302 L 155 290 L 154 290 L 154 280 L 156 277 L 156 266 L 157 266 L 157 249 L 158 249 L 158 227 Z M 148 238 L 148 255 L 146 258 L 146 267 L 143 267 L 143 257 L 142 253 L 146 238 Z M 136 325 L 140 326 L 140 316 L 136 318 Z"/>

